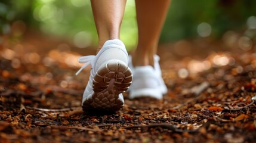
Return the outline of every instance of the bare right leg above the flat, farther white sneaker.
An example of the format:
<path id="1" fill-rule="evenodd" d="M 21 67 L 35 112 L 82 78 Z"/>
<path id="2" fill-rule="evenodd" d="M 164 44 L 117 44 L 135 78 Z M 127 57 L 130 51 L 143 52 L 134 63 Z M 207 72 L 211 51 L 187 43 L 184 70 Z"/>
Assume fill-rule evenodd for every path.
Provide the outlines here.
<path id="1" fill-rule="evenodd" d="M 153 55 L 158 48 L 159 36 L 170 0 L 136 0 L 138 45 L 132 54 L 134 66 L 154 66 Z"/>

